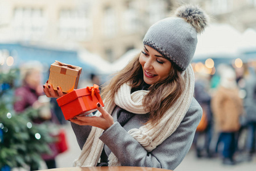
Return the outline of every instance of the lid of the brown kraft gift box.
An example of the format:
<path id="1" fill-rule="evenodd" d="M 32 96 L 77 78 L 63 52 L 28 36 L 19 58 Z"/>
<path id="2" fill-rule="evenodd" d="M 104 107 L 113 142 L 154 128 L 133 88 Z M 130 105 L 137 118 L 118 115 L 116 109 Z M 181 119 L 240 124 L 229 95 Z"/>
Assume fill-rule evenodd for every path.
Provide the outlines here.
<path id="1" fill-rule="evenodd" d="M 51 64 L 50 71 L 61 73 L 63 70 L 62 68 L 66 69 L 65 70 L 66 75 L 75 76 L 75 77 L 79 76 L 82 71 L 81 67 L 72 66 L 70 64 L 58 62 L 57 60 L 55 60 L 55 63 Z"/>

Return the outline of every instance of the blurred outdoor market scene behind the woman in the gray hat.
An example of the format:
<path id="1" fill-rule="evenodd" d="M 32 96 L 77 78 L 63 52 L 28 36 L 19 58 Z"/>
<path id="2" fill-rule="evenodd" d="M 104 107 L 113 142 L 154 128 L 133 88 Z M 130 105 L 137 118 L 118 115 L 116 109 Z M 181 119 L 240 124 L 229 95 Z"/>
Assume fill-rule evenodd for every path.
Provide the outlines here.
<path id="1" fill-rule="evenodd" d="M 0 0 L 0 170 L 71 167 L 75 135 L 42 91 L 50 65 L 82 67 L 78 88 L 101 85 L 141 51 L 153 23 L 184 3 L 210 15 L 192 61 L 206 119 L 176 170 L 254 170 L 256 0 Z M 228 135 L 221 113 L 235 120 Z M 63 130 L 66 148 L 56 149 Z"/>

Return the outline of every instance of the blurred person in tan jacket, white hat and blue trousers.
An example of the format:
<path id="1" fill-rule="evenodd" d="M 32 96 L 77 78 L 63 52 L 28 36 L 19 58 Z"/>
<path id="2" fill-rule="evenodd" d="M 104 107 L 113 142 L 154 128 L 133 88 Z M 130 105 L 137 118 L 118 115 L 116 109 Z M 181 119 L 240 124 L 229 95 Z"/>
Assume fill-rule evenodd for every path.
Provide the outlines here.
<path id="1" fill-rule="evenodd" d="M 239 97 L 239 89 L 233 68 L 223 66 L 220 71 L 220 84 L 211 101 L 215 128 L 220 133 L 219 142 L 224 144 L 222 150 L 223 164 L 234 165 L 236 136 L 243 113 L 243 101 Z M 217 144 L 219 145 L 219 144 Z"/>

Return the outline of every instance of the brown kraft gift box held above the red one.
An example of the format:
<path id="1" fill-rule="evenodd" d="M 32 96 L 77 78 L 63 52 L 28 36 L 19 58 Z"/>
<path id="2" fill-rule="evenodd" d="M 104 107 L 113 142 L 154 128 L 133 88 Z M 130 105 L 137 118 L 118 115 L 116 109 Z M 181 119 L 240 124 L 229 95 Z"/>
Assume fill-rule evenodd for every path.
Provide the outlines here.
<path id="1" fill-rule="evenodd" d="M 51 84 L 55 91 L 59 86 L 63 92 L 71 92 L 78 88 L 81 71 L 81 67 L 71 66 L 55 60 L 55 63 L 52 63 L 50 67 L 48 84 Z"/>

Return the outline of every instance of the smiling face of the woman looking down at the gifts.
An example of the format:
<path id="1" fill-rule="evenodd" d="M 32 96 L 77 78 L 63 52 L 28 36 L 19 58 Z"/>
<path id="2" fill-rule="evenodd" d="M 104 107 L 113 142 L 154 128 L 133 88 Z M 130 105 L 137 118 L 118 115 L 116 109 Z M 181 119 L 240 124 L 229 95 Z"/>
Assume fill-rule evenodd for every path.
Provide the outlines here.
<path id="1" fill-rule="evenodd" d="M 170 74 L 172 64 L 152 47 L 144 46 L 139 61 L 143 68 L 144 82 L 147 84 L 159 82 Z"/>

